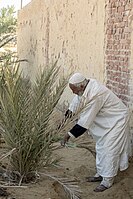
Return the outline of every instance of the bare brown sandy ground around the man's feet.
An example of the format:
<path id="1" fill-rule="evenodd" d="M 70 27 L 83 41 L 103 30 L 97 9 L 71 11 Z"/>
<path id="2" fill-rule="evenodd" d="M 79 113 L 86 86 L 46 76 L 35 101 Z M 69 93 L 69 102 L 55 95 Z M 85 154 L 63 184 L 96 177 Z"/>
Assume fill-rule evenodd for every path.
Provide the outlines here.
<path id="1" fill-rule="evenodd" d="M 59 144 L 59 143 L 57 143 Z M 115 178 L 114 185 L 102 192 L 95 193 L 93 189 L 99 183 L 89 183 L 85 177 L 95 174 L 95 158 L 92 154 L 81 148 L 62 148 L 56 150 L 55 156 L 61 157 L 60 167 L 49 170 L 42 169 L 42 173 L 58 177 L 67 177 L 76 179 L 82 191 L 82 199 L 132 199 L 133 198 L 133 160 L 130 161 L 130 167 L 119 172 Z M 36 183 L 30 183 L 27 187 L 7 188 L 10 193 L 8 199 L 67 199 L 63 188 L 49 177 L 40 175 Z M 0 197 L 2 199 L 2 197 Z M 3 197 L 4 198 L 4 197 Z"/>

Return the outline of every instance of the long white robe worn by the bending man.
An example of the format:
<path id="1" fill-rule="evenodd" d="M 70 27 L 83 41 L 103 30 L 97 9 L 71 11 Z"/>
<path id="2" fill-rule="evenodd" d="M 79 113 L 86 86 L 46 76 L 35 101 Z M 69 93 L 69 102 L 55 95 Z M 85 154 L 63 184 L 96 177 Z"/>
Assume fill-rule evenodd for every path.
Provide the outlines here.
<path id="1" fill-rule="evenodd" d="M 96 141 L 97 173 L 113 177 L 128 168 L 128 108 L 107 87 L 90 79 L 82 97 L 75 96 L 69 109 L 75 112 L 85 104 L 77 122 L 89 129 Z"/>

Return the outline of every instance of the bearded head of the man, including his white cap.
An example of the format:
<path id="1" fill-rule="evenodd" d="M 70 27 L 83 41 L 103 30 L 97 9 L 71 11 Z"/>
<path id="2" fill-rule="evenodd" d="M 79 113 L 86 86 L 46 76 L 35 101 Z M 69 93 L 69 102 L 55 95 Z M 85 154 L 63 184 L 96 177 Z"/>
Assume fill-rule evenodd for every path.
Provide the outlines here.
<path id="1" fill-rule="evenodd" d="M 69 87 L 72 92 L 76 95 L 82 96 L 88 80 L 80 73 L 75 73 L 69 79 Z"/>

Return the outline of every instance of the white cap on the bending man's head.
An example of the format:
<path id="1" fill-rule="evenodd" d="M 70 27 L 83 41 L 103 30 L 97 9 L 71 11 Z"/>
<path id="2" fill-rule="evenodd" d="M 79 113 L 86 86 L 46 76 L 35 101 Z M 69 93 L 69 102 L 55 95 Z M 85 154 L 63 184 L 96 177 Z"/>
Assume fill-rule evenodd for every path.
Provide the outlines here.
<path id="1" fill-rule="evenodd" d="M 69 84 L 78 84 L 85 80 L 86 78 L 81 73 L 75 73 L 69 79 Z"/>

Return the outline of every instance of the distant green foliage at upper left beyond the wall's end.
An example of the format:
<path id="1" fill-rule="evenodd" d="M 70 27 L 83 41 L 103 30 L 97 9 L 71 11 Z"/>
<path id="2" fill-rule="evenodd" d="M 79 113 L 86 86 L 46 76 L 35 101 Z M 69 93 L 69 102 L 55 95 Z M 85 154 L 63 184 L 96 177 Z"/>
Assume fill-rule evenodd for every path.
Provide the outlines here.
<path id="1" fill-rule="evenodd" d="M 0 64 L 16 55 L 13 48 L 16 46 L 17 19 L 14 15 L 14 6 L 0 9 Z M 13 47 L 13 48 L 12 48 Z"/>

